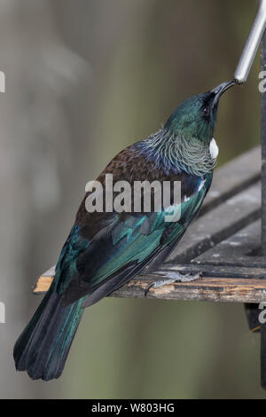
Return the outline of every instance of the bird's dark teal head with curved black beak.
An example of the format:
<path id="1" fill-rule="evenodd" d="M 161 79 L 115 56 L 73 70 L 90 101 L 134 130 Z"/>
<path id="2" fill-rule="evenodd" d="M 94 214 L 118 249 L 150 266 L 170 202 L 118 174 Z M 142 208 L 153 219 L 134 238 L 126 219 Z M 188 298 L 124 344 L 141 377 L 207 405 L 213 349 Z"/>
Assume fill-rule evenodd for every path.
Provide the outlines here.
<path id="1" fill-rule="evenodd" d="M 196 138 L 208 145 L 214 134 L 219 99 L 235 83 L 223 83 L 213 90 L 188 98 L 170 116 L 165 129 L 179 138 Z"/>

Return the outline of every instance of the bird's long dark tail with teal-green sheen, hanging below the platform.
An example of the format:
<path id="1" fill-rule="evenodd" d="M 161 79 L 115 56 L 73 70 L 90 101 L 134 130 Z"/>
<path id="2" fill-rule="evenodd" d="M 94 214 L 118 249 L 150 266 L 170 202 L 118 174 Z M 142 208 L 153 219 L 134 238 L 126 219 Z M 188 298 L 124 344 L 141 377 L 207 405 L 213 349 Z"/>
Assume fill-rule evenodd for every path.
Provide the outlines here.
<path id="1" fill-rule="evenodd" d="M 64 305 L 50 288 L 14 347 L 18 371 L 34 380 L 59 378 L 74 334 L 82 319 L 83 300 Z"/>

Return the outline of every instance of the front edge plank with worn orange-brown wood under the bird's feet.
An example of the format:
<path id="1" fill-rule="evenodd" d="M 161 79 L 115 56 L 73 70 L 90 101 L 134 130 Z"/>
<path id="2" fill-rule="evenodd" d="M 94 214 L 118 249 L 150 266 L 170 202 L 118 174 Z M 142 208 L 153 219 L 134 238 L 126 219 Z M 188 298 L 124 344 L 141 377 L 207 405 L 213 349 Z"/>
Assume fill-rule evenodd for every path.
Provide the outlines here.
<path id="1" fill-rule="evenodd" d="M 151 288 L 148 297 L 165 300 L 201 300 L 234 303 L 261 303 L 266 300 L 266 270 L 262 268 L 238 268 L 213 265 L 164 264 L 158 271 L 148 272 L 131 279 L 111 296 L 143 298 L 145 288 L 153 281 L 173 279 L 176 271 L 195 273 L 203 271 L 204 278 L 189 283 L 176 283 Z M 239 275 L 240 274 L 240 275 Z M 45 272 L 34 287 L 34 294 L 48 290 L 54 269 Z M 236 278 L 236 277 L 241 278 Z M 208 278 L 212 277 L 212 278 Z M 215 277 L 215 278 L 213 278 Z"/>

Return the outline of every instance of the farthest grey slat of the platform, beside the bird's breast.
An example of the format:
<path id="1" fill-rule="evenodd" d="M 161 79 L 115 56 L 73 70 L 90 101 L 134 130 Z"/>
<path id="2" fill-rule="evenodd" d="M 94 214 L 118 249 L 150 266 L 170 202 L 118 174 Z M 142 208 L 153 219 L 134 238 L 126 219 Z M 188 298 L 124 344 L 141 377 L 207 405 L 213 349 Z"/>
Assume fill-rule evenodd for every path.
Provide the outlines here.
<path id="1" fill-rule="evenodd" d="M 257 146 L 215 170 L 213 184 L 200 210 L 200 216 L 246 190 L 248 186 L 259 181 L 260 177 L 261 148 Z"/>

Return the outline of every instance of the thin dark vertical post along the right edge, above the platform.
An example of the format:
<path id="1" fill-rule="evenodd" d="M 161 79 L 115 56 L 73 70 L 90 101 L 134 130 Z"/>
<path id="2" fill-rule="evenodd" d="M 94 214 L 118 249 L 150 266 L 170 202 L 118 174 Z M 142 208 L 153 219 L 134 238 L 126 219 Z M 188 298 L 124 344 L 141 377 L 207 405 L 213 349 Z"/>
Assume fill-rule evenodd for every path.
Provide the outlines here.
<path id="1" fill-rule="evenodd" d="M 262 71 L 266 69 L 266 33 L 262 38 Z M 261 96 L 262 111 L 262 255 L 266 256 L 266 92 Z"/>

